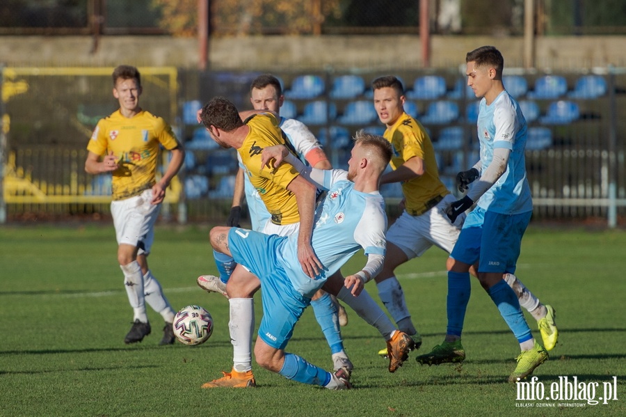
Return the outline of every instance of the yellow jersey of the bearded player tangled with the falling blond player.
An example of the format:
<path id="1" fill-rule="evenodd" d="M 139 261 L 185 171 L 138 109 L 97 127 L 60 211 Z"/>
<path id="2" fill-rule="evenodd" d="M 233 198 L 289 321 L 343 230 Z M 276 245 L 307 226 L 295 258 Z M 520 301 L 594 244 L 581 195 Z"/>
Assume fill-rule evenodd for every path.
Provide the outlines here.
<path id="1" fill-rule="evenodd" d="M 296 203 L 296 194 L 287 190 L 289 183 L 300 173 L 289 164 L 281 164 L 273 170 L 261 169 L 261 152 L 263 148 L 273 145 L 286 145 L 280 121 L 271 113 L 258 113 L 246 120 L 250 132 L 237 149 L 246 175 L 252 187 L 255 187 L 271 214 L 271 221 L 280 226 L 298 223 L 300 214 Z M 289 147 L 289 145 L 288 145 Z M 292 151 L 293 152 L 293 151 Z"/>

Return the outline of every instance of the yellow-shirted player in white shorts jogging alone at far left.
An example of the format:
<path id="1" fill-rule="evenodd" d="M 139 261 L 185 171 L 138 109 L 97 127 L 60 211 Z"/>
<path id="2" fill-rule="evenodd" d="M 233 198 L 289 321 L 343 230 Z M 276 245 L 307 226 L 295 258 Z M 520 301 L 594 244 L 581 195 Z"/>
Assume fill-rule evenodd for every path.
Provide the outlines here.
<path id="1" fill-rule="evenodd" d="M 125 343 L 141 342 L 150 334 L 145 303 L 161 314 L 166 324 L 161 345 L 174 343 L 175 312 L 161 284 L 147 265 L 154 241 L 154 223 L 170 181 L 184 161 L 184 149 L 163 118 L 141 109 L 141 76 L 137 68 L 120 65 L 113 71 L 113 97 L 120 109 L 99 120 L 87 145 L 85 171 L 113 175 L 111 216 L 118 240 L 118 262 L 134 311 Z M 157 181 L 159 145 L 172 154 Z"/>

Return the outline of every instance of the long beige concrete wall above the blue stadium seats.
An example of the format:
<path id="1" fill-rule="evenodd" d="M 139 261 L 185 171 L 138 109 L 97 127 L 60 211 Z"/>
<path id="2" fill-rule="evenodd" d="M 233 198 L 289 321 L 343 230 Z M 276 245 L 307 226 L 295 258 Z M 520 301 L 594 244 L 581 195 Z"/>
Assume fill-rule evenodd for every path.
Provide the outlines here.
<path id="1" fill-rule="evenodd" d="M 536 40 L 536 68 L 568 69 L 626 66 L 624 36 L 550 37 Z M 456 67 L 467 51 L 495 45 L 506 66 L 521 67 L 523 39 L 433 36 L 431 66 Z M 413 69 L 422 68 L 418 36 L 255 36 L 209 42 L 209 67 Z M 195 38 L 163 36 L 1 36 L 0 62 L 6 65 L 115 66 L 173 65 L 197 68 Z"/>

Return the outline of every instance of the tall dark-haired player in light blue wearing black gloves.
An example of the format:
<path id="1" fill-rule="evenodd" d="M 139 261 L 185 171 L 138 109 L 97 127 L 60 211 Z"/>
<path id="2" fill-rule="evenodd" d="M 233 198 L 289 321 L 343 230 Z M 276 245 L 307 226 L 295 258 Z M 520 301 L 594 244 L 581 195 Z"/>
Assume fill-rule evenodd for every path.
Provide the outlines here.
<path id="1" fill-rule="evenodd" d="M 417 357 L 422 363 L 460 362 L 465 310 L 470 300 L 470 267 L 478 265 L 478 278 L 520 343 L 521 353 L 510 382 L 524 379 L 547 360 L 546 350 L 531 334 L 515 291 L 503 274 L 515 273 L 522 236 L 531 219 L 533 203 L 526 177 L 524 147 L 527 124 L 519 105 L 504 89 L 504 58 L 495 47 L 469 52 L 467 85 L 482 97 L 477 123 L 481 158 L 469 171 L 458 173 L 459 189 L 467 195 L 451 203 L 450 221 L 476 203 L 447 261 L 447 334 L 442 345 Z M 470 183 L 472 187 L 470 187 Z"/>

